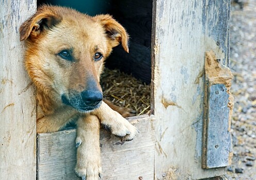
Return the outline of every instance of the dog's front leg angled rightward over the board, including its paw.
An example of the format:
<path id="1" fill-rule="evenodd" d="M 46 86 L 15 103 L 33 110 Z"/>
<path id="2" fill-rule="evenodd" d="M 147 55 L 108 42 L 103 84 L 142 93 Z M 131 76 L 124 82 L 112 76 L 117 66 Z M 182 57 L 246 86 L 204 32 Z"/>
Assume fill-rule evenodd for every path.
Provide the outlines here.
<path id="1" fill-rule="evenodd" d="M 138 130 L 118 112 L 112 110 L 105 102 L 91 114 L 97 116 L 105 129 L 119 137 L 122 141 L 133 140 Z"/>

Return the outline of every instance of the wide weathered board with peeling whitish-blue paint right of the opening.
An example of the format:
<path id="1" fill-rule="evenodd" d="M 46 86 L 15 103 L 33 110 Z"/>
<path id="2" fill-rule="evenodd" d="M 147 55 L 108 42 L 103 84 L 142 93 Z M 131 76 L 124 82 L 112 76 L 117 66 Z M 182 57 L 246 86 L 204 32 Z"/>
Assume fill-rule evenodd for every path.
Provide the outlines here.
<path id="1" fill-rule="evenodd" d="M 206 50 L 228 61 L 229 13 L 230 1 L 153 1 L 155 179 L 201 179 L 225 174 L 225 168 L 201 167 L 202 77 Z"/>

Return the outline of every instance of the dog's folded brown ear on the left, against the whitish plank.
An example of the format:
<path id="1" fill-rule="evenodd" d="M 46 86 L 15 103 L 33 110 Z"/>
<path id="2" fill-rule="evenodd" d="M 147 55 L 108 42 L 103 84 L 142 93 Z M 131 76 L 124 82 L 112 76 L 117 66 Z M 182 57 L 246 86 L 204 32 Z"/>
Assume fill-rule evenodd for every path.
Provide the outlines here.
<path id="1" fill-rule="evenodd" d="M 62 20 L 51 6 L 42 6 L 20 27 L 20 41 L 36 38 L 44 30 L 51 28 Z"/>

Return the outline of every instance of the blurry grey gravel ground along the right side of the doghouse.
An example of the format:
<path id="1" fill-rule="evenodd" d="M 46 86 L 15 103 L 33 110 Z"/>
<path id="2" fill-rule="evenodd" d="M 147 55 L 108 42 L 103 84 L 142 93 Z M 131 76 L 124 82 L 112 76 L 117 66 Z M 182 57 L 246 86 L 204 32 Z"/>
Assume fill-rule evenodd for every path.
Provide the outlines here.
<path id="1" fill-rule="evenodd" d="M 256 0 L 231 6 L 230 68 L 235 97 L 228 179 L 256 179 Z"/>

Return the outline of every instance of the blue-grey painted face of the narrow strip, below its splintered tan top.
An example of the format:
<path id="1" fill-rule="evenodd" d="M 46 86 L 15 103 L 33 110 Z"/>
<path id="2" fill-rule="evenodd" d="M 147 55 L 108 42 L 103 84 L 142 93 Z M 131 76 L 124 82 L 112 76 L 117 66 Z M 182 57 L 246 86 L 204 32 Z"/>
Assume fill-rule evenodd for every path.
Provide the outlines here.
<path id="1" fill-rule="evenodd" d="M 229 129 L 229 94 L 224 84 L 208 86 L 206 168 L 225 167 L 232 152 Z"/>

